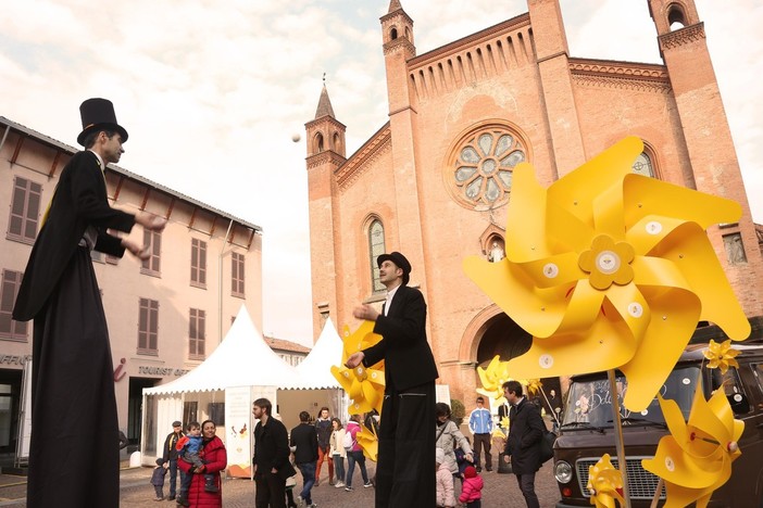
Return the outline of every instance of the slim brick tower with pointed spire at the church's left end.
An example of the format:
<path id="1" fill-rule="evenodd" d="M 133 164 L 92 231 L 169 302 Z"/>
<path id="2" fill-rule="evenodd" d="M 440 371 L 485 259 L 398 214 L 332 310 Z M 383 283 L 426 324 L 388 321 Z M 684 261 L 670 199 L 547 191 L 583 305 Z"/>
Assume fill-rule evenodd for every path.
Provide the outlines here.
<path id="1" fill-rule="evenodd" d="M 334 172 L 347 160 L 347 127 L 334 115 L 325 80 L 315 118 L 304 124 L 304 128 L 308 145 L 313 334 L 317 338 L 329 316 L 336 321 L 337 285 L 333 232 L 338 220 L 338 207 L 335 202 L 337 183 Z"/>

